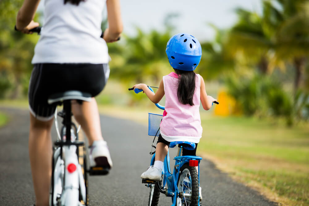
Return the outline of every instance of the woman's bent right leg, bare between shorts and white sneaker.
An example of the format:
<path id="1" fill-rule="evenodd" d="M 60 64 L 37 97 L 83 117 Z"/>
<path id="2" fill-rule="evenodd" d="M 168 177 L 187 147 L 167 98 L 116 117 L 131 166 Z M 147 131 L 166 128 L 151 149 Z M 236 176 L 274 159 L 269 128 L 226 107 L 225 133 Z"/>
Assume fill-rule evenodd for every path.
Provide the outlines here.
<path id="1" fill-rule="evenodd" d="M 84 101 L 82 104 L 73 101 L 72 112 L 76 121 L 83 128 L 89 145 L 92 145 L 93 141 L 103 140 L 99 110 L 95 98 L 91 98 L 90 102 Z"/>

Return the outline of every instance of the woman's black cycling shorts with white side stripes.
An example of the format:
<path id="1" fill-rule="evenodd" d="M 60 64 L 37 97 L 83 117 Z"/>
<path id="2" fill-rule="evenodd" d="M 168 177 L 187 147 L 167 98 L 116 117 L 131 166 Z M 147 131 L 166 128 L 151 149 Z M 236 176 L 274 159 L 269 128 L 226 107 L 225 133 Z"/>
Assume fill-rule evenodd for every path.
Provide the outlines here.
<path id="1" fill-rule="evenodd" d="M 94 97 L 103 90 L 108 77 L 108 64 L 35 64 L 28 90 L 30 112 L 38 120 L 48 121 L 57 107 L 47 103 L 50 95 L 79 90 Z"/>

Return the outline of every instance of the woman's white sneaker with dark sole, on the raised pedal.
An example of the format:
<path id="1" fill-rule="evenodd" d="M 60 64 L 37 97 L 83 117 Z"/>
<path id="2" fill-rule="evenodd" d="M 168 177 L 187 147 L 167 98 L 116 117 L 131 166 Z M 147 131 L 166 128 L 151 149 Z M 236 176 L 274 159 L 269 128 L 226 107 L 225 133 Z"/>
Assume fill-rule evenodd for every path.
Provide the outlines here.
<path id="1" fill-rule="evenodd" d="M 106 141 L 94 141 L 89 147 L 90 167 L 101 166 L 111 169 L 113 166 L 112 158 L 108 150 Z"/>

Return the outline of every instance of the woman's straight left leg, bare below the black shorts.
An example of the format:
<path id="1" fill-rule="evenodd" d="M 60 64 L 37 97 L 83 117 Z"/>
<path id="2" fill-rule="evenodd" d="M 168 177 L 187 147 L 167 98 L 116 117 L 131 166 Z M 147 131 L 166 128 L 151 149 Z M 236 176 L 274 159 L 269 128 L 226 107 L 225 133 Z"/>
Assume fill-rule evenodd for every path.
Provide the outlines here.
<path id="1" fill-rule="evenodd" d="M 29 157 L 32 171 L 36 205 L 49 204 L 49 187 L 52 172 L 52 142 L 49 121 L 37 120 L 30 113 Z"/>

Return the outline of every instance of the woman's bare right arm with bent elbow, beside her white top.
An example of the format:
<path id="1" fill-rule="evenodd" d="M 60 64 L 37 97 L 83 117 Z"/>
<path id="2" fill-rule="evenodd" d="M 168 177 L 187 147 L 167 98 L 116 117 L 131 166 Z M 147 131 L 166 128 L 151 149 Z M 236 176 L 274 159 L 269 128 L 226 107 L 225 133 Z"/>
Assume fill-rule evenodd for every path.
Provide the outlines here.
<path id="1" fill-rule="evenodd" d="M 106 6 L 108 28 L 104 31 L 103 39 L 106 42 L 114 42 L 118 40 L 123 30 L 120 13 L 120 2 L 119 0 L 107 0 Z"/>

